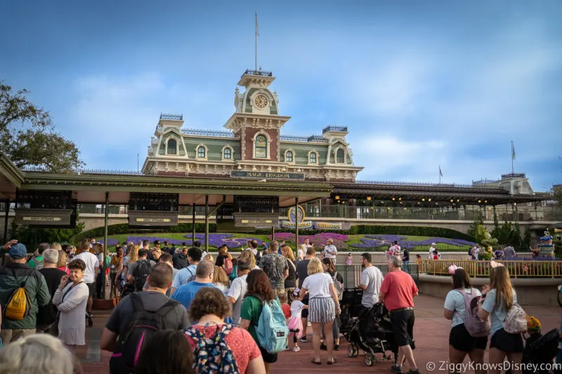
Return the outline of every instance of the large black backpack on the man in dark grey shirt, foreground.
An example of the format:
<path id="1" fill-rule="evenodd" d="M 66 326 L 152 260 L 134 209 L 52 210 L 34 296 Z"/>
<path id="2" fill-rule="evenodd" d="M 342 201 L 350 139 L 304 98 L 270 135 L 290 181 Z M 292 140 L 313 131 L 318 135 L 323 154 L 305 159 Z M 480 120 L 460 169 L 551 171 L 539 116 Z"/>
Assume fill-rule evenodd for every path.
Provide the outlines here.
<path id="1" fill-rule="evenodd" d="M 157 331 L 167 328 L 177 328 L 178 326 L 165 326 L 164 316 L 173 311 L 179 305 L 176 300 L 168 300 L 160 309 L 155 311 L 145 310 L 141 297 L 137 293 L 129 295 L 133 303 L 133 318 L 128 326 L 125 326 L 122 333 L 119 333 L 118 349 L 122 364 L 133 370 L 138 361 L 138 356 L 143 347 L 157 333 Z M 150 353 L 148 353 L 150 354 Z"/>

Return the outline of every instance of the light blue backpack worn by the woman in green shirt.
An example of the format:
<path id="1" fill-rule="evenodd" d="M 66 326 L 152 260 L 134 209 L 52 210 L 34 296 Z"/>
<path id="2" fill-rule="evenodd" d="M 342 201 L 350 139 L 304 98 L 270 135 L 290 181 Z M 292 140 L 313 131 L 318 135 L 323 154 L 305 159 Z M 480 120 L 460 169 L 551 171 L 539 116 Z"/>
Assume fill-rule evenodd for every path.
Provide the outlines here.
<path id="1" fill-rule="evenodd" d="M 278 300 L 263 302 L 258 326 L 256 326 L 259 345 L 269 353 L 285 351 L 287 347 L 287 319 Z"/>

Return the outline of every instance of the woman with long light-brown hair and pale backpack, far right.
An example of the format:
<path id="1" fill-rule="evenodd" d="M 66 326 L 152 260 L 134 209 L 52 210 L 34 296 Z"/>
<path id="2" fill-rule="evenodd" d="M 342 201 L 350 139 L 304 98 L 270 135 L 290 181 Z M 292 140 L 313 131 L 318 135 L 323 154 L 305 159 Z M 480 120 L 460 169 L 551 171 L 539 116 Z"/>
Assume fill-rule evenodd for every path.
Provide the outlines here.
<path id="1" fill-rule="evenodd" d="M 493 261 L 490 266 L 492 266 L 490 290 L 487 287 L 482 289 L 484 296 L 478 300 L 478 316 L 481 319 L 491 316 L 488 359 L 490 364 L 497 368 L 504 362 L 506 356 L 510 362 L 521 362 L 523 357 L 521 333 L 527 328 L 527 319 L 525 312 L 517 304 L 517 294 L 511 286 L 507 267 L 495 265 Z M 523 330 L 520 331 L 521 329 Z M 499 371 L 490 369 L 489 373 L 498 374 Z M 511 373 L 521 373 L 521 370 L 511 370 Z"/>

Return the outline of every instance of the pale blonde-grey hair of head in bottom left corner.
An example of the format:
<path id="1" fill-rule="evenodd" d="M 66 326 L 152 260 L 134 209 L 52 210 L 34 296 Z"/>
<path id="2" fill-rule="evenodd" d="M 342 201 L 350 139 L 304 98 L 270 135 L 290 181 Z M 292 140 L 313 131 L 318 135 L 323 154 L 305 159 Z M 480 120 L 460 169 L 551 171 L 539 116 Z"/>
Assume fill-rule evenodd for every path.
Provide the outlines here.
<path id="1" fill-rule="evenodd" d="M 0 349 L 0 374 L 43 373 L 81 373 L 81 368 L 63 342 L 48 334 L 29 335 Z"/>

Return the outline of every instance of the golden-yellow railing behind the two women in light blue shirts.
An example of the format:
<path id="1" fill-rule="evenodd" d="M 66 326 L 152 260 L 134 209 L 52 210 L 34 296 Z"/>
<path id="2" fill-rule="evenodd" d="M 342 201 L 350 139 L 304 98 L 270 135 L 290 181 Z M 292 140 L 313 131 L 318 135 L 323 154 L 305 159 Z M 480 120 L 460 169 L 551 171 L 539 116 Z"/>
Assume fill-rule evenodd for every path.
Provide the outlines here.
<path id="1" fill-rule="evenodd" d="M 507 267 L 509 275 L 514 278 L 555 278 L 562 276 L 562 260 L 535 261 L 535 260 L 500 260 Z M 470 276 L 490 276 L 490 261 L 470 260 L 420 260 L 419 272 L 430 275 L 449 275 L 449 267 L 457 265 L 462 267 Z"/>

